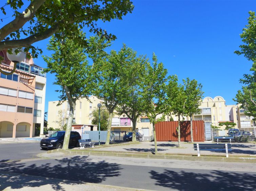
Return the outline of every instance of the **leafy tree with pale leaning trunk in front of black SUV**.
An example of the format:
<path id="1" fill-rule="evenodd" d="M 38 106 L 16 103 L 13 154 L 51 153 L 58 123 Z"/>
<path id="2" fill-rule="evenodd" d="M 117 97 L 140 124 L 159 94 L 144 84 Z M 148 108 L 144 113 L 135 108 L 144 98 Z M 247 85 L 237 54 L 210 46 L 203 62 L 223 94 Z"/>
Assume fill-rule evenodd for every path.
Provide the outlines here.
<path id="1" fill-rule="evenodd" d="M 76 35 L 81 35 L 85 38 L 82 32 Z M 43 57 L 44 61 L 47 63 L 47 68 L 44 72 L 55 74 L 56 81 L 54 84 L 60 86 L 60 89 L 56 90 L 60 92 L 58 105 L 65 100 L 67 100 L 70 105 L 63 142 L 63 149 L 67 149 L 76 101 L 80 98 L 87 98 L 88 95 L 91 94 L 95 87 L 95 79 L 91 73 L 91 66 L 86 60 L 86 50 L 82 44 L 74 42 L 72 38 L 64 38 L 60 41 L 53 36 L 47 50 L 53 51 L 54 53 L 51 57 Z"/>

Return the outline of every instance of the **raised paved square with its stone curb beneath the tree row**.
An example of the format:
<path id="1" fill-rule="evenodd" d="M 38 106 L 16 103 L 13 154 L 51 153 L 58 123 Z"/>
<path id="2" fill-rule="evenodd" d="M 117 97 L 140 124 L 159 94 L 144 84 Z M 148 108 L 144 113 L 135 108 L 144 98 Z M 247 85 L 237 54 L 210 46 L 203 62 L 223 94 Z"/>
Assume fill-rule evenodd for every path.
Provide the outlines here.
<path id="1" fill-rule="evenodd" d="M 154 154 L 154 142 L 126 142 L 114 145 L 100 145 L 94 148 L 55 149 L 47 153 L 65 153 L 67 155 L 96 155 L 147 159 L 173 159 L 191 161 L 218 161 L 218 162 L 250 162 L 256 163 L 255 143 L 232 143 L 232 152 L 226 157 L 222 151 L 201 151 L 197 157 L 192 143 L 158 142 L 158 155 Z"/>

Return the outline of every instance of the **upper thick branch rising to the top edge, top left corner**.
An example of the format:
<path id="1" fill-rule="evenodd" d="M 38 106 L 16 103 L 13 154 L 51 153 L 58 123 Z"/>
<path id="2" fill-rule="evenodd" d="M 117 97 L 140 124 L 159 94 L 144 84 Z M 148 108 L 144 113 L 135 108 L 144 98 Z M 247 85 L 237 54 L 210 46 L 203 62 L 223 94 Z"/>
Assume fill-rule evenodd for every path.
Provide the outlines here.
<path id="1" fill-rule="evenodd" d="M 46 0 L 34 0 L 32 1 L 28 7 L 13 21 L 9 22 L 5 26 L 3 26 L 0 29 L 0 41 L 2 41 L 6 36 L 8 36 L 10 33 L 19 30 L 23 27 L 23 25 L 31 20 L 36 11 L 40 8 L 40 6 L 45 2 Z M 1 49 L 0 49 L 1 50 Z"/>

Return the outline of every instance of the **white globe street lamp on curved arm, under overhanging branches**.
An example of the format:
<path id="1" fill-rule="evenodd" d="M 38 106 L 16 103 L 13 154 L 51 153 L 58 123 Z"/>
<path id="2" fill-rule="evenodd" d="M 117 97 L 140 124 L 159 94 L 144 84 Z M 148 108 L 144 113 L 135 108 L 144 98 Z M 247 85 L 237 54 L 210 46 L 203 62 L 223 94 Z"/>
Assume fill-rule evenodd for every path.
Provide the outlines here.
<path id="1" fill-rule="evenodd" d="M 23 48 L 20 49 L 20 52 L 18 54 L 15 53 L 15 50 L 16 49 L 13 48 L 12 54 L 9 54 L 8 52 L 6 53 L 7 58 L 9 60 L 11 60 L 12 62 L 14 62 L 14 66 L 13 66 L 13 70 L 11 72 L 4 72 L 4 71 L 2 71 L 0 69 L 0 72 L 2 74 L 4 74 L 4 75 L 11 75 L 11 74 L 13 74 L 15 72 L 15 70 L 16 70 L 17 63 L 19 63 L 21 61 L 24 61 L 24 59 L 26 57 L 26 53 L 24 53 L 24 49 Z"/>

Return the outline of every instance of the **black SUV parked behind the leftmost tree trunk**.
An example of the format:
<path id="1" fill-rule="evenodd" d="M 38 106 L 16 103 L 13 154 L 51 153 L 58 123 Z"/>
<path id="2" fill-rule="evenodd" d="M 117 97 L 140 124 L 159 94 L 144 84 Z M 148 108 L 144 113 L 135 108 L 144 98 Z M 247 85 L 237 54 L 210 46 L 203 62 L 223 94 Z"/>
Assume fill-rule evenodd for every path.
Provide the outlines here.
<path id="1" fill-rule="evenodd" d="M 64 141 L 65 131 L 57 131 L 51 134 L 49 137 L 45 137 L 40 141 L 40 146 L 42 149 L 54 149 L 54 148 L 62 148 Z M 76 131 L 71 131 L 70 139 L 68 146 L 76 146 L 79 147 L 78 140 L 81 139 L 81 136 Z"/>

